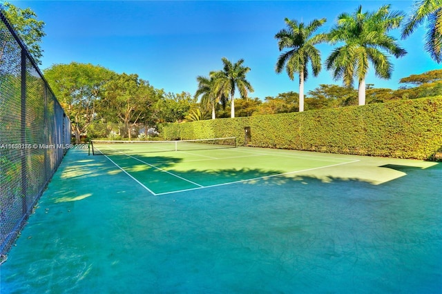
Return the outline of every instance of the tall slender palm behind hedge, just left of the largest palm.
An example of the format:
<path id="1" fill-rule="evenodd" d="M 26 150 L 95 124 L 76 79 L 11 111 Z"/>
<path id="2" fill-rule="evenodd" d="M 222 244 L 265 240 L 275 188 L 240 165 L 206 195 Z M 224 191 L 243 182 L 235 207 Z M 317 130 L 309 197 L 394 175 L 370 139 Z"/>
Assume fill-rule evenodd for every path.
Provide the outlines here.
<path id="1" fill-rule="evenodd" d="M 279 50 L 291 48 L 278 58 L 276 72 L 282 72 L 286 68 L 287 75 L 293 81 L 294 73 L 299 73 L 299 111 L 304 111 L 304 82 L 307 80 L 307 65 L 311 61 L 313 75 L 316 77 L 320 72 L 320 52 L 315 45 L 326 41 L 325 34 L 311 36 L 327 19 L 314 19 L 307 26 L 296 20 L 285 19 L 287 29 L 280 30 L 275 38 L 278 39 Z"/>

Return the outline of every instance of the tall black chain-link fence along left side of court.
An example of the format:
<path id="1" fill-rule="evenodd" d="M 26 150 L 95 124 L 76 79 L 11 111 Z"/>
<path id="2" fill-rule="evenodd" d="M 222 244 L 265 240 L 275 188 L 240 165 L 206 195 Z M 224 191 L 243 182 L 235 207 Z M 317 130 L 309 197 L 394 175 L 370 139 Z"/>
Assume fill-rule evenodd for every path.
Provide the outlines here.
<path id="1" fill-rule="evenodd" d="M 0 253 L 3 258 L 70 144 L 70 120 L 0 8 Z"/>

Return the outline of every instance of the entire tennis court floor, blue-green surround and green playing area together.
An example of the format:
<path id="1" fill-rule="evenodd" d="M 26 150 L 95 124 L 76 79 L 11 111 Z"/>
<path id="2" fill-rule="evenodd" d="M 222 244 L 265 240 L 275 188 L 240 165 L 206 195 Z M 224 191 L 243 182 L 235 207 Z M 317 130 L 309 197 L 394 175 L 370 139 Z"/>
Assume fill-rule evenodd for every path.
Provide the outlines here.
<path id="1" fill-rule="evenodd" d="M 2 294 L 442 291 L 442 164 L 125 149 L 69 150 Z"/>

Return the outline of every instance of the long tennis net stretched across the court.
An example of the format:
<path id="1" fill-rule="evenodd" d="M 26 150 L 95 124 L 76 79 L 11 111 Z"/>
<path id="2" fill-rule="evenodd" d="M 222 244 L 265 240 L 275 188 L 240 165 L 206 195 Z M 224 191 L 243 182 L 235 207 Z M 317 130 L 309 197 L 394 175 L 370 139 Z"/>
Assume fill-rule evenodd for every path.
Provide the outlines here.
<path id="1" fill-rule="evenodd" d="M 142 154 L 184 150 L 236 148 L 236 137 L 176 141 L 92 140 L 93 155 Z"/>

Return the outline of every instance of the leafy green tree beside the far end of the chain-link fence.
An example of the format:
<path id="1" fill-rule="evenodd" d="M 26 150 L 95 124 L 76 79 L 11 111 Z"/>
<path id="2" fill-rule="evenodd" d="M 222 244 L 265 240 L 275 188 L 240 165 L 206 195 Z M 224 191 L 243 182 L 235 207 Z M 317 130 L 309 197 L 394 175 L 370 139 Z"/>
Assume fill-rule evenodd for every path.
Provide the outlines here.
<path id="1" fill-rule="evenodd" d="M 102 66 L 76 62 L 55 64 L 44 70 L 44 76 L 70 118 L 77 143 L 97 114 L 97 101 L 104 97 L 104 85 L 115 75 Z"/>

